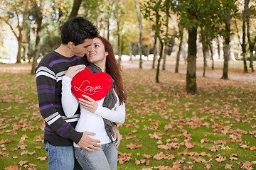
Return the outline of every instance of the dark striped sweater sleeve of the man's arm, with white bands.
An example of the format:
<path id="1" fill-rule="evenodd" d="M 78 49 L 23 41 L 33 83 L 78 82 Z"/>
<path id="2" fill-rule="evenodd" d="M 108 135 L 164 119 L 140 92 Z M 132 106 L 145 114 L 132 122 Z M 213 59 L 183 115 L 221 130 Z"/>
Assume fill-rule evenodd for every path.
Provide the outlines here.
<path id="1" fill-rule="evenodd" d="M 36 68 L 36 87 L 40 113 L 51 132 L 78 143 L 82 138 L 82 132 L 77 132 L 59 113 L 62 108 L 61 103 L 57 100 L 58 96 L 56 96 L 61 90 L 56 89 L 58 81 L 58 77 L 48 64 L 38 64 Z"/>

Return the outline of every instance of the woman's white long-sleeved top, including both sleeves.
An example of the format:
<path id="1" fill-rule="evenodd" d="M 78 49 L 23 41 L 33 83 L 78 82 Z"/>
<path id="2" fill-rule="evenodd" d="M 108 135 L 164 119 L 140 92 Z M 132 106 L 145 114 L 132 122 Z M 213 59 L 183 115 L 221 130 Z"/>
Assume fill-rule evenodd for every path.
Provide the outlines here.
<path id="1" fill-rule="evenodd" d="M 65 115 L 70 118 L 75 114 L 75 111 L 78 109 L 78 99 L 75 98 L 71 91 L 71 78 L 63 77 L 62 80 L 62 96 L 61 103 L 63 106 L 63 111 Z M 80 118 L 78 119 L 78 124 L 75 126 L 75 130 L 78 132 L 94 132 L 95 136 L 90 136 L 93 139 L 100 140 L 100 145 L 110 143 L 110 137 L 107 136 L 105 131 L 105 125 L 102 118 L 110 120 L 114 123 L 124 123 L 125 119 L 125 105 L 119 105 L 119 98 L 114 91 L 114 94 L 117 97 L 117 103 L 114 105 L 114 108 L 110 110 L 109 108 L 102 107 L 104 98 L 100 101 L 96 101 L 98 108 L 95 113 L 87 111 L 85 108 L 80 106 Z M 74 147 L 79 147 L 74 142 Z"/>

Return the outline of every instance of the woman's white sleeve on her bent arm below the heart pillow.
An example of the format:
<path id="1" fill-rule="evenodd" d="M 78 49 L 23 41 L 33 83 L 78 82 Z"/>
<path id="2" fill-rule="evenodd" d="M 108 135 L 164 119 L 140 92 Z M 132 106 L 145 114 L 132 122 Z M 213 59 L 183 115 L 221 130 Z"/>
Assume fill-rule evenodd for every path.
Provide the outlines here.
<path id="1" fill-rule="evenodd" d="M 114 123 L 124 123 L 125 120 L 125 104 L 117 105 L 114 110 L 110 110 L 109 108 L 105 108 L 103 106 L 98 106 L 95 111 L 96 115 L 101 116 L 107 120 L 110 120 Z"/>

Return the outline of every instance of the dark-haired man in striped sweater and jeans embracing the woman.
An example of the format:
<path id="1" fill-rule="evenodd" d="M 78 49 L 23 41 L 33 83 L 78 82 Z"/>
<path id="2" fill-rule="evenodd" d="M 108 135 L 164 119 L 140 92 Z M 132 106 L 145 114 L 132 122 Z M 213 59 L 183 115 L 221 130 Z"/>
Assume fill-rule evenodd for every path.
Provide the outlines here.
<path id="1" fill-rule="evenodd" d="M 76 72 L 85 68 L 82 57 L 91 48 L 92 38 L 97 35 L 97 28 L 90 21 L 82 17 L 70 18 L 61 29 L 60 47 L 43 57 L 36 68 L 39 109 L 46 121 L 44 144 L 50 170 L 74 169 L 73 142 L 88 150 L 100 147 L 100 141 L 88 136 L 94 133 L 77 132 L 74 129 L 80 108 L 73 117 L 67 118 L 60 101 L 62 77 L 69 67 Z M 120 135 L 116 126 L 113 129 L 119 142 Z"/>

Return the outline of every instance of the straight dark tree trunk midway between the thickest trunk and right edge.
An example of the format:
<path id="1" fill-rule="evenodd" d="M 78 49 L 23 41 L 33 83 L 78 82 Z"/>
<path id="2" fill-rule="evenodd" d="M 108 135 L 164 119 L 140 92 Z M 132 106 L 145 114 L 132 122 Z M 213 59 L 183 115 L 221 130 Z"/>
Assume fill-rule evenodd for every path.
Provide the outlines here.
<path id="1" fill-rule="evenodd" d="M 225 42 L 224 42 L 224 64 L 223 76 L 221 79 L 228 79 L 228 61 L 230 60 L 230 13 L 226 14 L 225 19 Z"/>

